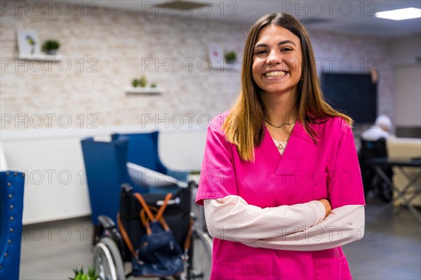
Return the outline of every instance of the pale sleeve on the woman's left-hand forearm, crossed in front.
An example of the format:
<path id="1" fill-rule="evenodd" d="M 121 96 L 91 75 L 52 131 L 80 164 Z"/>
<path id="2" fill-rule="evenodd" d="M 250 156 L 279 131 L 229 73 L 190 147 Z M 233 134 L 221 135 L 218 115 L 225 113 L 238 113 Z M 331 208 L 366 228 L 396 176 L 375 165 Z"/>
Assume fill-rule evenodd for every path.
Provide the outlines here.
<path id="1" fill-rule="evenodd" d="M 300 232 L 318 224 L 326 215 L 320 201 L 260 208 L 248 205 L 240 196 L 229 195 L 223 199 L 205 199 L 203 206 L 211 236 L 232 236 L 235 239 L 232 241 L 240 242 L 290 234 L 292 227 Z"/>

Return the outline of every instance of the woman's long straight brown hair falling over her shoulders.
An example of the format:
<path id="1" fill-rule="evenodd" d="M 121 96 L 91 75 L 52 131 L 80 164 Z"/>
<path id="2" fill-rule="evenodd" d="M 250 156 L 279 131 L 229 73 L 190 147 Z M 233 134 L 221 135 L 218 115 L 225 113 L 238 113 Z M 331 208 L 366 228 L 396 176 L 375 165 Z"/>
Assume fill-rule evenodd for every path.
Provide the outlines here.
<path id="1" fill-rule="evenodd" d="M 298 120 L 305 131 L 316 141 L 312 124 L 326 121 L 327 117 L 340 116 L 350 126 L 352 119 L 333 109 L 323 98 L 312 44 L 302 24 L 286 13 L 269 13 L 251 27 L 244 46 L 241 69 L 241 91 L 230 114 L 222 125 L 226 138 L 236 145 L 241 159 L 254 161 L 254 147 L 260 145 L 265 133 L 263 125 L 265 105 L 260 98 L 260 88 L 253 80 L 253 49 L 259 32 L 267 25 L 279 25 L 298 36 L 302 50 L 302 76 L 298 83 L 298 98 L 295 104 Z M 298 62 L 296 62 L 298 63 Z"/>

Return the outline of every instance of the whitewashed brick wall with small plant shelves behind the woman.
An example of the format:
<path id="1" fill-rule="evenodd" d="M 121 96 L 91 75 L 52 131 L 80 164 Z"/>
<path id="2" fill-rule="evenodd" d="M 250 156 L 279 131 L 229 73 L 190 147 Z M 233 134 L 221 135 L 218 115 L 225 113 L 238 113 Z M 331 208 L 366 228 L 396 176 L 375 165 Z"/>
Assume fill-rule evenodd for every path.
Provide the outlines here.
<path id="1" fill-rule="evenodd" d="M 2 128 L 23 129 L 25 120 L 27 127 L 36 128 L 40 126 L 40 115 L 44 117 L 43 128 L 64 127 L 67 120 L 72 121 L 69 124 L 72 128 L 88 124 L 98 127 L 140 125 L 142 114 L 159 114 L 160 119 L 171 118 L 173 114 L 194 114 L 197 124 L 201 114 L 215 116 L 234 101 L 239 90 L 239 72 L 215 69 L 204 72 L 199 68 L 199 60 L 207 57 L 210 42 L 241 55 L 246 38 L 244 30 L 248 26 L 206 18 L 156 17 L 110 8 L 97 8 L 95 16 L 87 16 L 87 11 L 80 15 L 80 10 L 74 7 L 72 13 L 65 16 L 54 7 L 51 15 L 47 7 L 43 15 L 30 11 L 25 15 L 25 11 L 13 9 L 2 11 Z M 65 60 L 61 64 L 18 60 L 16 31 L 19 28 L 36 29 L 41 41 L 60 40 L 59 54 Z M 325 32 L 310 34 L 318 65 L 323 62 L 326 70 L 337 71 L 342 67 L 342 70 L 359 72 L 377 63 L 379 111 L 393 117 L 392 65 L 385 42 Z M 189 69 L 189 59 L 196 59 L 192 61 L 192 69 Z M 13 64 L 6 67 L 6 60 Z M 152 60 L 154 65 L 142 72 L 145 60 Z M 180 61 L 183 69 L 173 71 L 180 67 Z M 333 61 L 331 65 L 329 61 Z M 352 62 L 350 69 L 349 61 Z M 201 66 L 206 67 L 206 63 Z M 38 72 L 40 67 L 42 70 Z M 68 71 L 64 72 L 67 67 Z M 126 95 L 123 88 L 142 74 L 163 88 L 163 93 Z M 55 115 L 48 119 L 46 114 Z M 12 116 L 13 120 L 6 122 L 4 116 L 9 119 Z M 16 116 L 23 121 L 17 123 Z M 61 123 L 58 123 L 59 117 L 62 117 Z"/>

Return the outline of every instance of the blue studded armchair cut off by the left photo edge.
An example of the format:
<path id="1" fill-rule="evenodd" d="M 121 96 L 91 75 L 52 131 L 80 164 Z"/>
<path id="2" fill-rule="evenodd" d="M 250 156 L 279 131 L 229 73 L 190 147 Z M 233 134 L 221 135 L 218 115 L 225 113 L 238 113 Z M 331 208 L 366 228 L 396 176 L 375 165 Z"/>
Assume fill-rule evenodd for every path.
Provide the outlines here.
<path id="1" fill-rule="evenodd" d="M 25 174 L 0 172 L 0 279 L 19 279 Z"/>

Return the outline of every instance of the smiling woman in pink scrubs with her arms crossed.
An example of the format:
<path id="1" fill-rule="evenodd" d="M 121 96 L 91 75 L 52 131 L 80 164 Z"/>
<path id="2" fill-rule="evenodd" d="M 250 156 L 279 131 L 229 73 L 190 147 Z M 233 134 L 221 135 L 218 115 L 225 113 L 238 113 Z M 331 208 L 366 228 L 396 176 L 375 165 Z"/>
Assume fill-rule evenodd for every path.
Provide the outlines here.
<path id="1" fill-rule="evenodd" d="M 352 119 L 323 100 L 298 20 L 255 22 L 241 81 L 208 128 L 196 196 L 213 236 L 210 279 L 351 279 L 340 246 L 364 226 Z"/>

